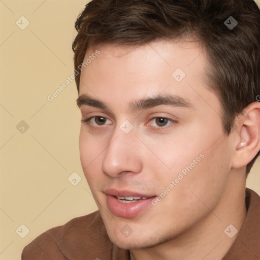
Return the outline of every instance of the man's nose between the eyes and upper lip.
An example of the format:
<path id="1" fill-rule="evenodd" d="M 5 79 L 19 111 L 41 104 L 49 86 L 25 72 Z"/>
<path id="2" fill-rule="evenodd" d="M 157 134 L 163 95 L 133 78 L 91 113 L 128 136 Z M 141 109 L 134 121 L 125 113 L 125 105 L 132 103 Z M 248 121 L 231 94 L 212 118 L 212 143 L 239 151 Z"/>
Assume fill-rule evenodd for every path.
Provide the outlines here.
<path id="1" fill-rule="evenodd" d="M 102 170 L 111 177 L 142 171 L 142 150 L 134 131 L 125 134 L 115 129 L 102 162 Z"/>

